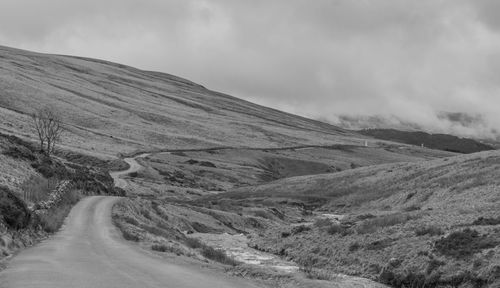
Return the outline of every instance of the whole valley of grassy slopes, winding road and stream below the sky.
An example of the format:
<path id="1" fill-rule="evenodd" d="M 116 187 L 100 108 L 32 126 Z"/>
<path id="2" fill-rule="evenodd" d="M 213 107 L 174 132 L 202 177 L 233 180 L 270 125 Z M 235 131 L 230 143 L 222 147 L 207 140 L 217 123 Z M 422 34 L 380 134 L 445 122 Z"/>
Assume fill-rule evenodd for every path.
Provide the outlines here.
<path id="1" fill-rule="evenodd" d="M 0 47 L 0 64 L 2 288 L 500 285 L 496 150 L 96 59 Z M 66 129 L 51 157 L 30 118 L 45 105 Z"/>

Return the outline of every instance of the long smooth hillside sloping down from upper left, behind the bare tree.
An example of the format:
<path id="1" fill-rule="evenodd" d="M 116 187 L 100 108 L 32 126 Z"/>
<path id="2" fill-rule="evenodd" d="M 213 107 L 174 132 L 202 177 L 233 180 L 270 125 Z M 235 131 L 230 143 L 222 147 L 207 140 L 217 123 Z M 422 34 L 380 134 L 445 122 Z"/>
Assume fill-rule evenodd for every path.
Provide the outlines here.
<path id="1" fill-rule="evenodd" d="M 47 105 L 70 131 L 64 145 L 108 156 L 151 148 L 364 142 L 359 134 L 169 74 L 0 46 L 0 131 L 30 137 L 28 115 Z"/>

